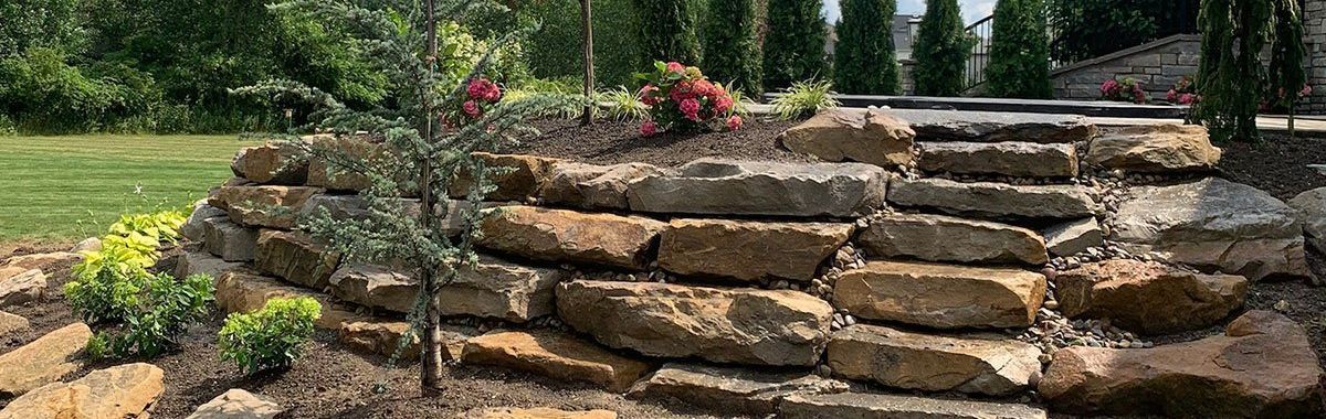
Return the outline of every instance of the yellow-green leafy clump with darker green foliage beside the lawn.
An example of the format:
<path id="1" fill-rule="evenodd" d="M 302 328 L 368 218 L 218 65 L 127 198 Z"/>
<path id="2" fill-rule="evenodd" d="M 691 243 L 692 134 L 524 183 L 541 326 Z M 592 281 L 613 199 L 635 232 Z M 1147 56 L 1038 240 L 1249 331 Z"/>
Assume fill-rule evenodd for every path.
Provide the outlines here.
<path id="1" fill-rule="evenodd" d="M 160 356 L 179 348 L 188 325 L 207 316 L 211 278 L 176 280 L 149 271 L 159 256 L 158 246 L 178 241 L 183 223 L 179 210 L 123 215 L 110 226 L 99 251 L 82 252 L 65 297 L 85 321 L 105 326 L 89 342 L 89 356 Z"/>

